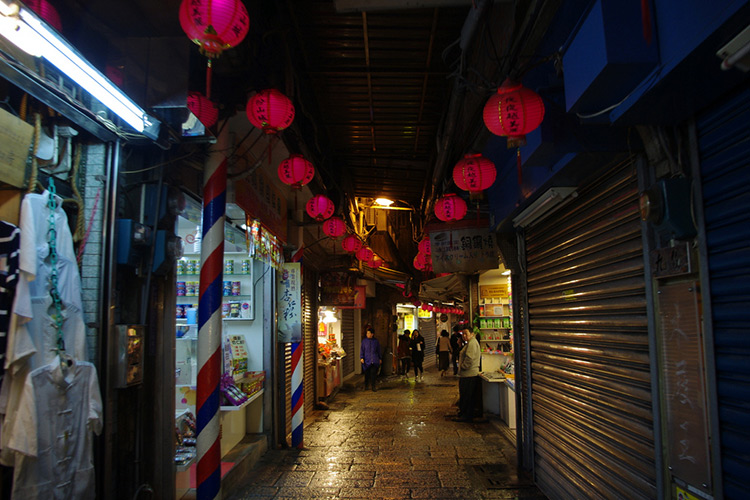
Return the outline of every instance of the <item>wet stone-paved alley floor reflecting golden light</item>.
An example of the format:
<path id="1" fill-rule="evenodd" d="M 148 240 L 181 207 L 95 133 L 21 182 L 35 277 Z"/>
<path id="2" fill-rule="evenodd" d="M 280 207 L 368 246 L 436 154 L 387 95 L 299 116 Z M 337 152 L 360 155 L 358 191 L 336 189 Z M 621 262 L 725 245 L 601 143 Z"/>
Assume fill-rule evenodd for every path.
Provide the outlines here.
<path id="1" fill-rule="evenodd" d="M 224 498 L 546 499 L 516 474 L 507 429 L 450 419 L 458 378 L 435 370 L 419 383 L 381 379 L 377 392 L 342 389 L 305 418 L 303 449 L 269 449 Z"/>

